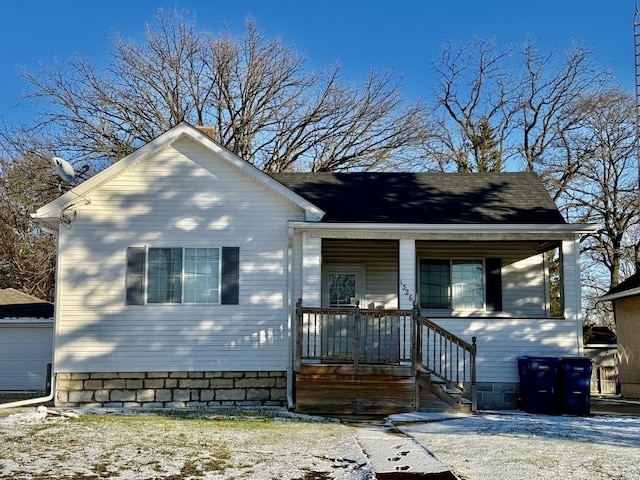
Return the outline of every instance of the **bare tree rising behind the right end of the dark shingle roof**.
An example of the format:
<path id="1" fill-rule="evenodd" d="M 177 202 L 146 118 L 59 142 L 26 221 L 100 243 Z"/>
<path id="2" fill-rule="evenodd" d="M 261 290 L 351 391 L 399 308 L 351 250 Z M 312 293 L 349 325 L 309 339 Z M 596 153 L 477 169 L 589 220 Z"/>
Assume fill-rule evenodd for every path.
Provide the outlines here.
<path id="1" fill-rule="evenodd" d="M 488 129 L 492 156 L 500 159 L 494 170 L 509 161 L 512 168 L 540 173 L 557 167 L 546 161 L 579 123 L 574 100 L 599 91 L 610 78 L 581 45 L 559 58 L 554 51 L 540 53 L 531 41 L 501 49 L 492 38 L 446 45 L 433 68 L 441 128 L 426 151 L 440 165 L 466 171 L 486 169 L 486 150 L 477 139 L 486 138 Z"/>

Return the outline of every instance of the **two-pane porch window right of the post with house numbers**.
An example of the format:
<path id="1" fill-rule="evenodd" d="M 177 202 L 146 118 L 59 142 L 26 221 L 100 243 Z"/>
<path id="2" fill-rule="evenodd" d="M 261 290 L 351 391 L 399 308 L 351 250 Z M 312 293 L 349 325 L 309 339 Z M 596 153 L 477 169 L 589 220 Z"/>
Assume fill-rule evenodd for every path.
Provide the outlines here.
<path id="1" fill-rule="evenodd" d="M 484 308 L 483 261 L 421 260 L 420 306 L 457 310 Z"/>

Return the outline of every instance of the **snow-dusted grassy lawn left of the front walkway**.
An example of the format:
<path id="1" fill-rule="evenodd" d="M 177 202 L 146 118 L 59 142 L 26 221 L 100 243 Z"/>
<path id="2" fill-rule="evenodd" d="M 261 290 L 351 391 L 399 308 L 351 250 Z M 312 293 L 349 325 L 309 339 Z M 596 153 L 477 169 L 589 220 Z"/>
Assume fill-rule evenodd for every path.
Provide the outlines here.
<path id="1" fill-rule="evenodd" d="M 40 409 L 0 418 L 0 478 L 374 478 L 346 425 L 284 409 L 257 416 L 214 410 L 75 413 Z"/>

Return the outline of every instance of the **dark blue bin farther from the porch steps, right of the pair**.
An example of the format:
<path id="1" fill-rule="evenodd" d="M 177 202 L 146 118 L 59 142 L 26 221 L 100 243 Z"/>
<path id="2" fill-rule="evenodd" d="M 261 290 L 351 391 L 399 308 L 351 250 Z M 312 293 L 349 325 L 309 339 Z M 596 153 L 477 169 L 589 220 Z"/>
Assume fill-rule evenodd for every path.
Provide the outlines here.
<path id="1" fill-rule="evenodd" d="M 591 413 L 591 370 L 593 362 L 585 357 L 562 357 L 561 409 L 567 415 Z"/>

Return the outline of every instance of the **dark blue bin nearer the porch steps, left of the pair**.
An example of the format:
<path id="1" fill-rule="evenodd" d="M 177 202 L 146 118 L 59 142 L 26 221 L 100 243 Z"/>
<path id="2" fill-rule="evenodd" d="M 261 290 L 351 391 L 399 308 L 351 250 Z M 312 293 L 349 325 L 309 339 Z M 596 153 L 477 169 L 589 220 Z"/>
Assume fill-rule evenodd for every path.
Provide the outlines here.
<path id="1" fill-rule="evenodd" d="M 555 415 L 558 409 L 560 358 L 518 357 L 520 406 L 527 413 Z"/>

